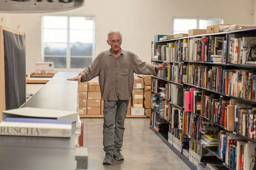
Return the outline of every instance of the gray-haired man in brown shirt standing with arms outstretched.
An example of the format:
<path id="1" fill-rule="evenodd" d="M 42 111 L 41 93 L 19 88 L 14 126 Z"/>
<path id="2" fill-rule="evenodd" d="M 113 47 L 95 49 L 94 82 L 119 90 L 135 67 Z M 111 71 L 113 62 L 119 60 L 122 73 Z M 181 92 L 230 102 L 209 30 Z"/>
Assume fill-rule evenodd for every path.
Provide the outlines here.
<path id="1" fill-rule="evenodd" d="M 169 66 L 142 62 L 136 54 L 121 49 L 122 35 L 119 31 L 108 33 L 111 49 L 100 53 L 93 63 L 78 77 L 69 80 L 86 82 L 99 76 L 99 85 L 104 100 L 103 145 L 106 152 L 103 164 L 112 164 L 113 158 L 124 160 L 120 149 L 125 131 L 125 116 L 134 84 L 134 73 L 157 74 Z"/>

